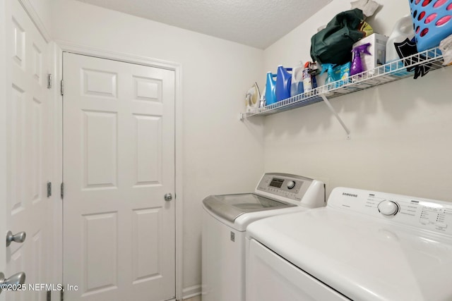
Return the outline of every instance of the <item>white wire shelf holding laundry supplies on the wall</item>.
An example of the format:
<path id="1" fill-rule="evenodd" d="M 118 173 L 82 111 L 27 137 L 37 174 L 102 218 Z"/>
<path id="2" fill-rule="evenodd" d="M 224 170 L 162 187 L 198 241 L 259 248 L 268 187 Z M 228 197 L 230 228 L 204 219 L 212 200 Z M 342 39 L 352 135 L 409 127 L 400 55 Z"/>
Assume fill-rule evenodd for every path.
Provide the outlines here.
<path id="1" fill-rule="evenodd" d="M 409 68 L 428 65 L 430 70 L 436 70 L 445 67 L 442 63 L 443 55 L 441 54 L 441 51 L 438 48 L 428 49 L 398 61 L 386 63 L 385 65 L 376 67 L 372 70 L 366 70 L 363 73 L 352 75 L 345 80 L 336 80 L 328 85 L 316 87 L 314 90 L 297 94 L 294 97 L 283 99 L 280 102 L 275 102 L 274 104 L 261 108 L 249 109 L 246 113 L 242 113 L 241 117 L 266 116 L 281 111 L 299 108 L 300 106 L 322 102 L 322 94 L 323 96 L 328 97 L 328 99 L 340 97 L 345 94 L 366 90 L 388 82 L 412 77 L 415 72 L 414 70 L 408 72 L 407 69 Z"/>

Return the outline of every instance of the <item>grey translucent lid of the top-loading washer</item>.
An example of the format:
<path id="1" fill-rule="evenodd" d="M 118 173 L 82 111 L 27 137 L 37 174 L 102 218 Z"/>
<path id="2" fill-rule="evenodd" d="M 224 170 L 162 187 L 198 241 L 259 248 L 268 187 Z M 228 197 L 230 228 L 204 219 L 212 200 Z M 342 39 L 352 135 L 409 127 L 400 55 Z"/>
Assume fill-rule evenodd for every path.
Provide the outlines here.
<path id="1" fill-rule="evenodd" d="M 204 206 L 213 214 L 234 222 L 245 213 L 295 207 L 295 204 L 278 202 L 254 193 L 237 195 L 210 195 L 203 199 Z"/>

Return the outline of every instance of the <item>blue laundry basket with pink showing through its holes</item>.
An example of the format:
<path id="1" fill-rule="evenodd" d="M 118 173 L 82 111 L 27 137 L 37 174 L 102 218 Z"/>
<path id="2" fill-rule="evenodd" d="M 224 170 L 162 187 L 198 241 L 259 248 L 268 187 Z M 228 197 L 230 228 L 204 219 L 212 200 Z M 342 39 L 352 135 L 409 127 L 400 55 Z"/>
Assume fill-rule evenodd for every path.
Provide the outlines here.
<path id="1" fill-rule="evenodd" d="M 409 0 L 417 51 L 439 45 L 452 35 L 452 0 Z"/>

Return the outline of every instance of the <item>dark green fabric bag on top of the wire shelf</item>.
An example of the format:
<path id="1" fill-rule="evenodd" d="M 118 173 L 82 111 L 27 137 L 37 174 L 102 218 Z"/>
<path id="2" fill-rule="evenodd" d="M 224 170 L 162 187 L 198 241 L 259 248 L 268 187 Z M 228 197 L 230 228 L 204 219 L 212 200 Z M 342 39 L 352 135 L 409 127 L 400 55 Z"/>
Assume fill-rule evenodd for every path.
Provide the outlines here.
<path id="1" fill-rule="evenodd" d="M 336 65 L 352 61 L 352 45 L 373 32 L 359 8 L 338 13 L 326 28 L 311 37 L 311 58 Z"/>

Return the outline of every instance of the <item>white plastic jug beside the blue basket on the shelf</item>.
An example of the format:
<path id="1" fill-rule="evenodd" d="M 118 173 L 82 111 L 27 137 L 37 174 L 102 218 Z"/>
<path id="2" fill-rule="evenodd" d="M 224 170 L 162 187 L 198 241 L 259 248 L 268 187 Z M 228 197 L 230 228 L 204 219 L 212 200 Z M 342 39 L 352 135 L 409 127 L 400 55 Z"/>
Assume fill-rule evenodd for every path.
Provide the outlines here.
<path id="1" fill-rule="evenodd" d="M 400 59 L 398 57 L 394 43 L 403 42 L 406 38 L 412 39 L 415 36 L 415 30 L 412 27 L 412 18 L 410 15 L 404 16 L 397 21 L 393 31 L 386 42 L 386 63 Z"/>

